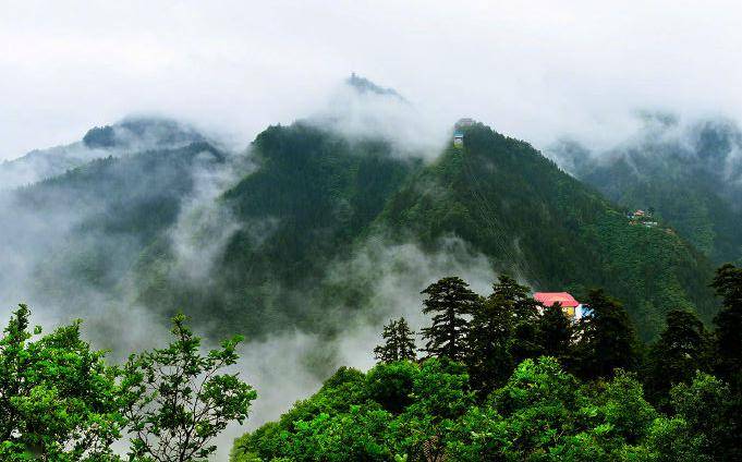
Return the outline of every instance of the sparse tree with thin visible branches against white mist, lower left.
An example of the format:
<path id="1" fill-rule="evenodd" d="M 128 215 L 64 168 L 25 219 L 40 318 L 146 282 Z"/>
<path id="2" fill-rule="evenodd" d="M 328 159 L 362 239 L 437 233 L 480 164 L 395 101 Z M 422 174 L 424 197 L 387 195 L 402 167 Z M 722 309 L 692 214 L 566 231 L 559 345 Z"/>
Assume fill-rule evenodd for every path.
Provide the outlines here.
<path id="1" fill-rule="evenodd" d="M 239 374 L 223 372 L 236 363 L 242 338 L 204 355 L 200 338 L 185 321 L 184 315 L 174 316 L 173 342 L 132 355 L 124 367 L 132 460 L 206 460 L 217 449 L 214 438 L 228 424 L 242 424 L 257 397 Z"/>

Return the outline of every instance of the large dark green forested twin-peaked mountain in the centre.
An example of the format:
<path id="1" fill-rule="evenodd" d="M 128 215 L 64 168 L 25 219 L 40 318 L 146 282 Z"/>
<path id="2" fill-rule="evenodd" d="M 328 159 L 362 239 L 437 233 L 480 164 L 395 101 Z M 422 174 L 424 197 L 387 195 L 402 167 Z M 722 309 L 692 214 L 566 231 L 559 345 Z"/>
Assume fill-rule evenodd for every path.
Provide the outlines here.
<path id="1" fill-rule="evenodd" d="M 437 252 L 454 236 L 535 289 L 582 296 L 605 287 L 646 338 L 672 308 L 696 309 L 706 320 L 716 309 L 707 287 L 713 267 L 685 241 L 632 226 L 527 143 L 484 125 L 466 127 L 464 146 L 449 145 L 429 165 L 396 156 L 384 141 L 353 143 L 302 122 L 266 130 L 252 153 L 256 170 L 221 198 L 239 230 L 208 293 L 155 271 L 142 279 L 143 303 L 171 309 L 198 301 L 252 333 L 331 330 L 364 308 L 354 284 L 366 282 L 349 273 L 338 284 L 328 267 L 374 239 Z M 158 258 L 149 263 L 161 268 Z M 162 293 L 181 295 L 168 306 Z"/>

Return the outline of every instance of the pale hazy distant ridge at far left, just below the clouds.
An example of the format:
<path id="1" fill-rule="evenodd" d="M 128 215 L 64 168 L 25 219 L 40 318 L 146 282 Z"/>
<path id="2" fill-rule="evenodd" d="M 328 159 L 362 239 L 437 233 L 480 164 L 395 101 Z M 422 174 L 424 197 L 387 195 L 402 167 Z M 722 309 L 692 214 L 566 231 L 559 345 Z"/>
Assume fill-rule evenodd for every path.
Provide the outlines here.
<path id="1" fill-rule="evenodd" d="M 64 173 L 94 159 L 147 149 L 183 147 L 206 138 L 195 129 L 161 118 L 126 118 L 90 129 L 82 141 L 32 150 L 0 163 L 0 190 L 12 190 Z"/>

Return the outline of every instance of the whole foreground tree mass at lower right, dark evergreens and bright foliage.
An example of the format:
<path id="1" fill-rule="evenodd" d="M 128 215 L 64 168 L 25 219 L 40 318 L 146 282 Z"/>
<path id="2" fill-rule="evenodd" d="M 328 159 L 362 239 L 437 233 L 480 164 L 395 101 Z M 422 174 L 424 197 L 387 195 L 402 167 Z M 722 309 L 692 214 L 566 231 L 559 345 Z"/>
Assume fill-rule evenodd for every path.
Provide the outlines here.
<path id="1" fill-rule="evenodd" d="M 421 358 L 392 320 L 374 368 L 341 368 L 232 461 L 740 460 L 742 269 L 713 287 L 715 330 L 673 311 L 645 345 L 599 290 L 573 323 L 507 276 L 486 297 L 441 279 L 423 292 Z"/>

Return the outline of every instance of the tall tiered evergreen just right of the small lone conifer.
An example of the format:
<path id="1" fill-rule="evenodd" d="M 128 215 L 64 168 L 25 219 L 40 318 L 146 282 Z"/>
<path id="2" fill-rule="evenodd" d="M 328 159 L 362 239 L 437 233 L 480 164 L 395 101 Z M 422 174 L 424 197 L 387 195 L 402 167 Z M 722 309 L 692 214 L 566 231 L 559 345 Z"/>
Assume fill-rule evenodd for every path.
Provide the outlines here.
<path id="1" fill-rule="evenodd" d="M 433 314 L 433 325 L 423 329 L 425 351 L 431 356 L 462 361 L 466 352 L 466 316 L 481 304 L 479 295 L 461 278 L 449 277 L 425 289 L 424 314 Z"/>

